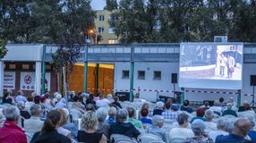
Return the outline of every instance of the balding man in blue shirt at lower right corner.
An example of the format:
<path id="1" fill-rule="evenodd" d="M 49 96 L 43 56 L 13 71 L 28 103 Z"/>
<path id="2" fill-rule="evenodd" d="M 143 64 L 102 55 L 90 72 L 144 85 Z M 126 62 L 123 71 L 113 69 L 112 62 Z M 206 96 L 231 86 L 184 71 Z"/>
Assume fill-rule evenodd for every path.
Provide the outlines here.
<path id="1" fill-rule="evenodd" d="M 216 138 L 216 143 L 224 142 L 249 142 L 250 140 L 245 139 L 249 130 L 252 128 L 250 120 L 241 118 L 235 122 L 234 130 L 226 136 L 220 135 Z"/>

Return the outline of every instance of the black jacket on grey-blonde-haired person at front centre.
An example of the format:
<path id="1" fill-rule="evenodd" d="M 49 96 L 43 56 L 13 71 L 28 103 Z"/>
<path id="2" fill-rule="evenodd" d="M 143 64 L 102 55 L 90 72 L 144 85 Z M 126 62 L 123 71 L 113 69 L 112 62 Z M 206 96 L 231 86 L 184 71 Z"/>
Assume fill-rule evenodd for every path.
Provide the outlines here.
<path id="1" fill-rule="evenodd" d="M 122 134 L 137 139 L 141 132 L 131 122 L 113 122 L 110 124 L 110 135 L 112 134 Z"/>

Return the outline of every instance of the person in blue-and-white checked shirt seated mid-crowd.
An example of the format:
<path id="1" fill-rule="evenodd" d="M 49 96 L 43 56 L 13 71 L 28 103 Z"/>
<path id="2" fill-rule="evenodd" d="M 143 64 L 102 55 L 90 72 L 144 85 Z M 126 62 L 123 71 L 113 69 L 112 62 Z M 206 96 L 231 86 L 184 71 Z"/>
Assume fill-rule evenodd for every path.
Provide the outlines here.
<path id="1" fill-rule="evenodd" d="M 162 116 L 164 116 L 165 119 L 172 119 L 172 120 L 177 120 L 178 114 L 175 112 L 172 108 L 172 102 L 167 101 L 166 102 L 166 110 L 162 113 Z"/>

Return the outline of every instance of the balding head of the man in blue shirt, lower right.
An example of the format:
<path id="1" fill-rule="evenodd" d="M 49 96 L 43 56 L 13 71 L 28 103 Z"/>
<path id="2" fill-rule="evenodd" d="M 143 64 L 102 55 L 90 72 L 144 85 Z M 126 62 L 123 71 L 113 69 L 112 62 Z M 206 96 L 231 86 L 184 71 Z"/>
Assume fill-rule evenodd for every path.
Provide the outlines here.
<path id="1" fill-rule="evenodd" d="M 240 118 L 235 122 L 233 133 L 237 136 L 246 137 L 249 130 L 252 128 L 252 123 L 246 118 Z"/>

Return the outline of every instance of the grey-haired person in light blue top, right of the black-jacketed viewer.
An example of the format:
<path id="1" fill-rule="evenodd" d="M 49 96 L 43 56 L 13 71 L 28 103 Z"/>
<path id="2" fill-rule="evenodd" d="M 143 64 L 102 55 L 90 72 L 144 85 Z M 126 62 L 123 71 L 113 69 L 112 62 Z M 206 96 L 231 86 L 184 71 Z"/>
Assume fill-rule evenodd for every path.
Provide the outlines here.
<path id="1" fill-rule="evenodd" d="M 166 141 L 166 130 L 163 128 L 164 117 L 161 115 L 154 115 L 152 117 L 152 126 L 149 127 L 149 133 L 157 135 L 163 141 Z"/>

